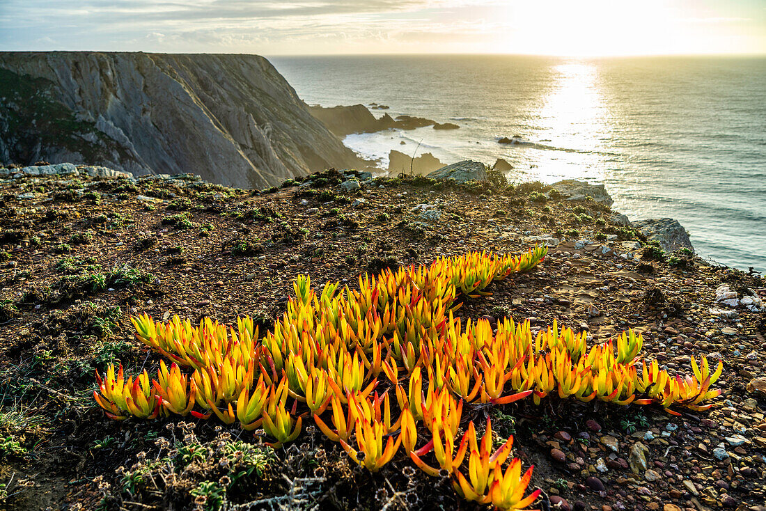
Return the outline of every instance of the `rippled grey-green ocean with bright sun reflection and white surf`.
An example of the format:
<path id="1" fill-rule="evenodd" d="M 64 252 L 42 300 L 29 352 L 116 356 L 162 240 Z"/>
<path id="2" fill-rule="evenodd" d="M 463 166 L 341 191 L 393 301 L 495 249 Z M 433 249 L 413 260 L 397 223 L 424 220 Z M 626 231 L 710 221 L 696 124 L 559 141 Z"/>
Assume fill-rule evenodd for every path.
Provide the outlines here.
<path id="1" fill-rule="evenodd" d="M 676 218 L 702 257 L 766 272 L 764 57 L 270 60 L 306 103 L 380 103 L 460 126 L 345 138 L 381 168 L 391 149 L 417 149 L 445 163 L 506 159 L 513 182 L 604 183 L 630 219 Z"/>

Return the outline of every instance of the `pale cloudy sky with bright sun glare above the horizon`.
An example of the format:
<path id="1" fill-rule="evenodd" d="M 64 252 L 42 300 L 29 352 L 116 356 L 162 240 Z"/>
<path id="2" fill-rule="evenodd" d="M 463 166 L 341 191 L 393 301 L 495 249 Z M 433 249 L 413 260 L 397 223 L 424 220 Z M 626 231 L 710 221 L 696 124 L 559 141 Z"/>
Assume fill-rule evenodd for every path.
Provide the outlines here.
<path id="1" fill-rule="evenodd" d="M 766 54 L 766 0 L 0 0 L 0 51 Z"/>

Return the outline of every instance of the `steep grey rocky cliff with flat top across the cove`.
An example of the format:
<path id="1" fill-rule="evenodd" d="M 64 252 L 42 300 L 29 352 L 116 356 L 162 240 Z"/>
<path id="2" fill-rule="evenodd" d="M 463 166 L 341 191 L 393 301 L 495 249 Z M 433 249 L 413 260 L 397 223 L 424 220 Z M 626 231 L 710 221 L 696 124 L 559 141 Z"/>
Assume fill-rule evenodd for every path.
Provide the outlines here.
<path id="1" fill-rule="evenodd" d="M 257 55 L 0 52 L 0 162 L 276 185 L 355 154 Z"/>

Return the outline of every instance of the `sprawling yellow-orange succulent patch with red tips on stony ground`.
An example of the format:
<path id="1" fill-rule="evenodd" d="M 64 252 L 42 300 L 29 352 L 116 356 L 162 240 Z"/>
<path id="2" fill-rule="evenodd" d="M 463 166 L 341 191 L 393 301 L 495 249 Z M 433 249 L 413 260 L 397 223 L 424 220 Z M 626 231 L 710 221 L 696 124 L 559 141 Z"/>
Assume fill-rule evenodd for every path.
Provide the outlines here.
<path id="1" fill-rule="evenodd" d="M 454 316 L 461 296 L 488 295 L 493 281 L 531 270 L 546 254 L 535 247 L 519 256 L 439 257 L 360 276 L 358 290 L 333 282 L 314 289 L 302 275 L 263 336 L 247 316 L 236 326 L 136 316 L 136 337 L 165 359 L 157 378 L 143 371 L 126 379 L 122 367 L 110 365 L 97 374 L 93 395 L 110 418 L 215 415 L 262 429 L 275 447 L 294 440 L 310 414 L 368 470 L 379 470 L 401 445 L 426 473 L 447 474 L 466 499 L 523 508 L 538 495 L 524 497 L 531 469 L 522 476 L 512 460 L 503 470 L 512 438 L 492 451 L 489 421 L 481 441 L 473 422 L 457 437 L 464 406 L 475 411 L 531 397 L 535 404 L 598 399 L 701 411 L 720 394 L 710 387 L 722 372 L 720 362 L 711 372 L 706 359 L 692 357 L 692 375 L 671 375 L 642 358 L 643 339 L 632 330 L 589 347 L 587 332 L 557 322 L 533 335 L 529 322 L 499 318 L 493 329 L 486 319 Z M 418 448 L 419 430 L 427 443 Z M 434 465 L 426 463 L 431 451 Z"/>

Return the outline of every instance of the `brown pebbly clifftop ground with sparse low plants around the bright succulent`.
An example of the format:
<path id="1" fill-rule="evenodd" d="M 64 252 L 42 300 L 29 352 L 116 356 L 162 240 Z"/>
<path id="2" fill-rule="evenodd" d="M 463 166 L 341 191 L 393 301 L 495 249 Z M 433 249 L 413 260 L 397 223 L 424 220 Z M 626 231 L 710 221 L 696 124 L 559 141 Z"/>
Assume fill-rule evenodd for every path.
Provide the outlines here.
<path id="1" fill-rule="evenodd" d="M 671 370 L 690 372 L 689 355 L 725 369 L 715 407 L 679 417 L 556 398 L 466 407 L 516 436 L 514 455 L 535 465 L 530 488 L 544 490 L 535 507 L 766 509 L 763 280 L 668 254 L 592 195 L 493 175 L 461 185 L 324 172 L 250 192 L 42 169 L 0 171 L 0 506 L 480 509 L 401 455 L 377 474 L 356 469 L 312 426 L 274 452 L 212 420 L 111 421 L 93 402 L 93 371 L 157 362 L 133 338 L 133 314 L 244 313 L 263 331 L 298 274 L 355 287 L 382 267 L 545 243 L 541 267 L 460 315 L 557 319 L 592 342 L 630 327 Z"/>

